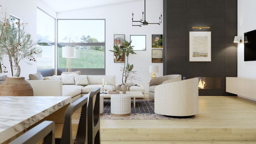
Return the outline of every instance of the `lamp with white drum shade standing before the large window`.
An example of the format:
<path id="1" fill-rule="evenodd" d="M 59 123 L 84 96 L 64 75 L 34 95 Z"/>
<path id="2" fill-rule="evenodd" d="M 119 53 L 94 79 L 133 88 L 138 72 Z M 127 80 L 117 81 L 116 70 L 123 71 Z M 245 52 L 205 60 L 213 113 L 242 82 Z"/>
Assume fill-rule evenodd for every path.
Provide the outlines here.
<path id="1" fill-rule="evenodd" d="M 62 47 L 62 58 L 67 58 L 66 61 L 66 72 L 68 67 L 68 72 L 71 72 L 71 62 L 70 58 L 76 57 L 76 48 L 71 46 Z"/>

